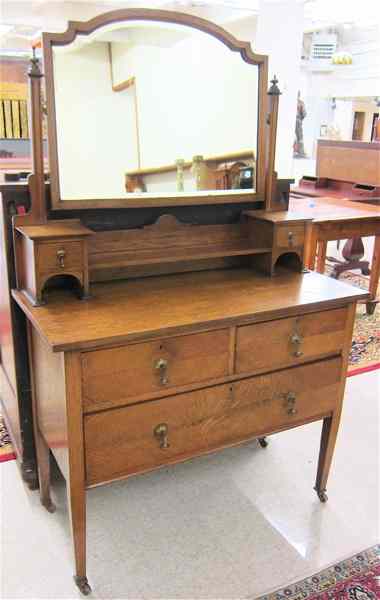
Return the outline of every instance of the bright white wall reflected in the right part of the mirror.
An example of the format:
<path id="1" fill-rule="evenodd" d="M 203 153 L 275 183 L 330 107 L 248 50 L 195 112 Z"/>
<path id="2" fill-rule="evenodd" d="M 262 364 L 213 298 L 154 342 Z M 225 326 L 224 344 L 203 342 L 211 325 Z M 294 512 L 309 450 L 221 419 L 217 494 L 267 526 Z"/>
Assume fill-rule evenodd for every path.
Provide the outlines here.
<path id="1" fill-rule="evenodd" d="M 143 168 L 256 149 L 257 68 L 239 54 L 204 34 L 112 51 L 115 81 L 136 78 Z"/>

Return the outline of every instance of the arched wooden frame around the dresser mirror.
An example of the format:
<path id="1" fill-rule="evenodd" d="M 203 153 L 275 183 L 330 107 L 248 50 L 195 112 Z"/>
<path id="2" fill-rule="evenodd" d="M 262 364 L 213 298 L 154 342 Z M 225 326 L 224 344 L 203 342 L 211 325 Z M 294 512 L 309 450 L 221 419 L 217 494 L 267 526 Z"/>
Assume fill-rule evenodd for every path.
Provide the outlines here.
<path id="1" fill-rule="evenodd" d="M 91 200 L 62 200 L 59 185 L 58 147 L 57 147 L 57 121 L 55 111 L 54 72 L 53 72 L 53 46 L 65 46 L 73 42 L 77 35 L 89 35 L 97 29 L 111 23 L 125 21 L 158 21 L 185 25 L 212 35 L 225 44 L 232 52 L 239 52 L 241 58 L 258 67 L 258 122 L 257 122 L 257 151 L 256 151 L 256 190 L 252 194 L 234 192 L 222 195 L 189 194 L 175 197 L 149 196 L 149 193 L 137 198 L 136 196 L 115 199 Z M 230 204 L 237 202 L 255 202 L 264 200 L 265 192 L 265 146 L 266 146 L 266 114 L 267 114 L 267 86 L 268 86 L 268 57 L 256 54 L 250 42 L 243 42 L 231 33 L 211 21 L 193 15 L 155 9 L 122 9 L 110 11 L 89 21 L 69 21 L 68 28 L 63 33 L 42 34 L 43 59 L 46 82 L 46 103 L 48 121 L 48 148 L 49 167 L 51 178 L 51 208 L 83 209 L 83 208 L 140 208 L 146 206 L 184 206 L 194 204 Z"/>

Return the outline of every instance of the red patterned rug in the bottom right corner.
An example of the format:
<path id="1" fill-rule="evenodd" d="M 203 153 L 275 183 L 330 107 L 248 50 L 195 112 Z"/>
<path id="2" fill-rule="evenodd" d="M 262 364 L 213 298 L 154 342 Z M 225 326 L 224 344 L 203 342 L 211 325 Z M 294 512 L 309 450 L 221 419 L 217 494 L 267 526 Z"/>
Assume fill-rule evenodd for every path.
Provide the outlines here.
<path id="1" fill-rule="evenodd" d="M 256 600 L 379 600 L 380 545 Z"/>

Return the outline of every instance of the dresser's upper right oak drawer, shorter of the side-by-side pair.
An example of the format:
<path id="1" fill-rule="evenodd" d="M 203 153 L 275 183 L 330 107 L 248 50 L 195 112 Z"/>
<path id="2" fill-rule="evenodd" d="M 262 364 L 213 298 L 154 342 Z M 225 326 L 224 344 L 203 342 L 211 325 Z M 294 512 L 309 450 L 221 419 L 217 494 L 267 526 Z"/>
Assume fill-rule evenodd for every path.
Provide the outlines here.
<path id="1" fill-rule="evenodd" d="M 238 327 L 236 373 L 274 370 L 341 352 L 347 309 Z"/>

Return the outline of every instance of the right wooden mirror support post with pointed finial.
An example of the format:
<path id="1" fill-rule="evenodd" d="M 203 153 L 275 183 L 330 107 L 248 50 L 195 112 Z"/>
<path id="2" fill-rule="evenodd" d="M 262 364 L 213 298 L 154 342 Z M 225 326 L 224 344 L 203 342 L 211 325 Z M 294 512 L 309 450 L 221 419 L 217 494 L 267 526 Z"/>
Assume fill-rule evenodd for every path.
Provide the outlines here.
<path id="1" fill-rule="evenodd" d="M 276 75 L 271 80 L 271 86 L 268 90 L 269 113 L 268 113 L 268 146 L 265 165 L 265 208 L 266 210 L 283 210 L 281 205 L 277 205 L 277 173 L 275 171 L 276 159 L 276 137 L 278 121 L 278 105 L 281 91 L 278 87 Z"/>

